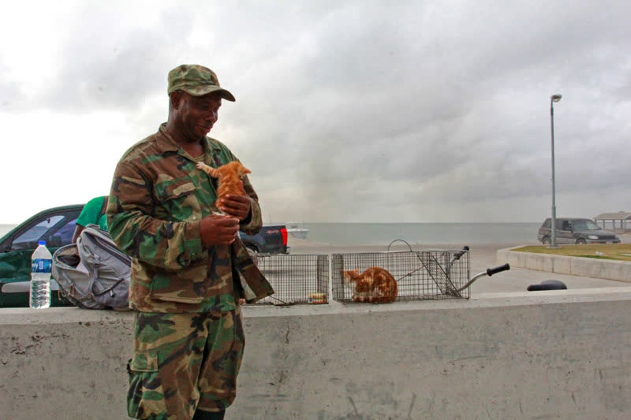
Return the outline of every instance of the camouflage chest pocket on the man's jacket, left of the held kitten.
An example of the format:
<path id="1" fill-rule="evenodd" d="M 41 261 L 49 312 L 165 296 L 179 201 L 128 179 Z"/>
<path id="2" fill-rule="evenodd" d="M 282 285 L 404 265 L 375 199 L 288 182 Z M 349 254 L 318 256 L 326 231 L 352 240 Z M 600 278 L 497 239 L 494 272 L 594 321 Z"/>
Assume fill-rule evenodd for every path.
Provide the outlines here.
<path id="1" fill-rule="evenodd" d="M 196 189 L 190 178 L 155 184 L 154 193 L 160 202 L 155 209 L 156 218 L 168 221 L 201 219 L 201 207 L 194 194 Z"/>

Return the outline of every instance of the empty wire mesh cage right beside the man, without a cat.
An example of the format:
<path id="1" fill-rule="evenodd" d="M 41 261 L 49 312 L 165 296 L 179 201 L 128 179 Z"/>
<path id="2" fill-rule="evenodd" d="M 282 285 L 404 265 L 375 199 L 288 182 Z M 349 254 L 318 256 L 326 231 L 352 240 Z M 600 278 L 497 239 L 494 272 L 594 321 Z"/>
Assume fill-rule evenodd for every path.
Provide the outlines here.
<path id="1" fill-rule="evenodd" d="M 327 303 L 328 255 L 258 254 L 257 265 L 274 288 L 274 295 L 253 305 Z"/>

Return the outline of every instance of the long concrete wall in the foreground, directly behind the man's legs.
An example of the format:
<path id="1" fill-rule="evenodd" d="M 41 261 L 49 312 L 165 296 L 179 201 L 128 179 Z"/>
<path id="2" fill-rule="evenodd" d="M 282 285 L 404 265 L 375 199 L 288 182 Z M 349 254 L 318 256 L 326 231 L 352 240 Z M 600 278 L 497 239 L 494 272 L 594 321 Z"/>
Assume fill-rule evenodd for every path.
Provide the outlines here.
<path id="1" fill-rule="evenodd" d="M 227 419 L 624 418 L 631 290 L 244 308 Z M 0 310 L 2 418 L 126 418 L 133 314 Z"/>

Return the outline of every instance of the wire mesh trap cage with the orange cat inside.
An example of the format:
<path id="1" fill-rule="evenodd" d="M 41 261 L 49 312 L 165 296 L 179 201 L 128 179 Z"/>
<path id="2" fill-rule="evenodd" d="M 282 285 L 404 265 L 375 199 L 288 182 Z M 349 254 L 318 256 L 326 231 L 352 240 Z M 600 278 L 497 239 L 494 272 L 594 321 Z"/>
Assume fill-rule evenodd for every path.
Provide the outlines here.
<path id="1" fill-rule="evenodd" d="M 409 251 L 333 254 L 333 299 L 344 303 L 468 299 L 468 251 L 468 247 L 422 251 L 410 247 Z"/>

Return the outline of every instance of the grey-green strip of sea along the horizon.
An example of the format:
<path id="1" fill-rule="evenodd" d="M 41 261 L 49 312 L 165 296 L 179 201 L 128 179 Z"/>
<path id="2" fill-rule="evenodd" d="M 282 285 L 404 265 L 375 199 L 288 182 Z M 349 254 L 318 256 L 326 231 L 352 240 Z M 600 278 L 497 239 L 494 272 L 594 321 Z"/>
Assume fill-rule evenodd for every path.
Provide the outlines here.
<path id="1" fill-rule="evenodd" d="M 541 223 L 304 223 L 307 239 L 331 245 L 537 242 Z M 0 225 L 0 237 L 16 225 Z"/>

